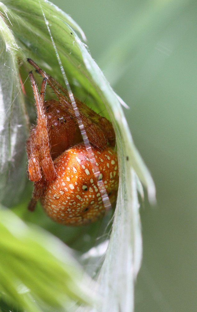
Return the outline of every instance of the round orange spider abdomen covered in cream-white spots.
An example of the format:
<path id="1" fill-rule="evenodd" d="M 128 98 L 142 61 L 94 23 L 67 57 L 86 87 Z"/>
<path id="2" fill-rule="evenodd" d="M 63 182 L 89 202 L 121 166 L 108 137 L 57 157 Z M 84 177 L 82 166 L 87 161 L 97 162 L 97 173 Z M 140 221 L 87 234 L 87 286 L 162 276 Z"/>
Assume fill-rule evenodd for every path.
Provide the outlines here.
<path id="1" fill-rule="evenodd" d="M 110 203 L 116 201 L 118 160 L 113 148 L 92 147 L 100 175 L 96 178 L 84 144 L 76 144 L 54 160 L 57 178 L 46 183 L 41 199 L 54 221 L 67 225 L 94 222 L 105 213 L 98 180 L 103 181 Z"/>

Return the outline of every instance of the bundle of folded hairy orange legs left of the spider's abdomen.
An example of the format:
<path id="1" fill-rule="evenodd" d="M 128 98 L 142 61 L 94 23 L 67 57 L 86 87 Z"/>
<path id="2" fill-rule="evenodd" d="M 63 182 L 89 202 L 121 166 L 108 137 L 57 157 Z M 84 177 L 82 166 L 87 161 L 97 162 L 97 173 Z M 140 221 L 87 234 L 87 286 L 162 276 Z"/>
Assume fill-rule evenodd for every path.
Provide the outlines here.
<path id="1" fill-rule="evenodd" d="M 42 81 L 40 94 L 32 72 L 30 72 L 30 80 L 37 110 L 37 125 L 35 131 L 31 133 L 30 139 L 27 141 L 29 179 L 34 181 L 34 192 L 28 207 L 29 210 L 32 211 L 35 209 L 36 202 L 42 195 L 44 178 L 47 181 L 54 180 L 56 178 L 56 171 L 50 155 L 47 118 L 45 116 L 44 108 L 47 77 Z M 42 172 L 44 177 L 42 177 Z"/>

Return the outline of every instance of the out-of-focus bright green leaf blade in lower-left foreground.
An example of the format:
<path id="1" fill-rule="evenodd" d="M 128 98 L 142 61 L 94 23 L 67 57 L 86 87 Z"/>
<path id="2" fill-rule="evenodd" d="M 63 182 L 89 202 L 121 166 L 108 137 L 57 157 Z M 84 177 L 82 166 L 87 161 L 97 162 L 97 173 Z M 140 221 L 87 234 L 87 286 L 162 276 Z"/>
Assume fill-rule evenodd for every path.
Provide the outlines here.
<path id="1" fill-rule="evenodd" d="M 65 245 L 39 228 L 28 228 L 8 210 L 1 209 L 0 217 L 0 274 L 4 281 L 0 289 L 3 287 L 23 307 L 25 301 L 16 289 L 16 281 L 37 300 L 40 298 L 45 305 L 58 310 L 71 306 L 72 300 L 84 304 L 92 302 L 87 285 L 81 282 L 87 283 L 88 278 L 83 276 Z M 28 298 L 25 300 L 29 302 Z"/>

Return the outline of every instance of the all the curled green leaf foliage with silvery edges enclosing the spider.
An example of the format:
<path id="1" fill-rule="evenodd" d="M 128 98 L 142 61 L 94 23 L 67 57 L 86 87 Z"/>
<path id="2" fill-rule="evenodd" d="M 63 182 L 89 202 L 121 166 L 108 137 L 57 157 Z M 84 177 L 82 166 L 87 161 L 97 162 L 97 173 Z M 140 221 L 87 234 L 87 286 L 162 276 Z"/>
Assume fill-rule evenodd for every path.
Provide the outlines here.
<path id="1" fill-rule="evenodd" d="M 45 234 L 45 239 L 43 239 L 40 230 L 32 232 L 23 223 L 19 225 L 20 222 L 13 216 L 11 216 L 14 228 L 14 233 L 12 233 L 10 222 L 8 222 L 9 217 L 6 217 L 7 212 L 3 211 L 0 237 L 4 236 L 5 239 L 2 241 L 0 239 L 0 249 L 2 250 L 1 268 L 4 270 L 0 270 L 0 274 L 3 276 L 7 272 L 9 279 L 0 279 L 0 291 L 14 303 L 18 302 L 26 311 L 33 311 L 33 309 L 40 311 L 43 305 L 45 310 L 48 306 L 54 306 L 58 311 L 61 309 L 72 311 L 71 308 L 77 310 L 79 304 L 82 304 L 81 310 L 89 310 L 91 308 L 87 308 L 87 305 L 93 304 L 94 311 L 98 312 L 120 310 L 130 312 L 134 304 L 134 280 L 140 267 L 142 249 L 137 198 L 137 192 L 141 189 L 139 181 L 147 188 L 148 196 L 152 201 L 155 198 L 155 188 L 148 169 L 134 146 L 120 99 L 91 58 L 84 43 L 77 36 L 76 31 L 84 38 L 81 29 L 67 14 L 43 0 L 2 1 L 0 12 L 1 64 L 4 71 L 7 71 L 7 88 L 3 89 L 0 95 L 0 99 L 7 97 L 7 100 L 0 102 L 3 107 L 0 109 L 4 110 L 1 116 L 2 125 L 4 125 L 2 129 L 4 145 L 1 145 L 1 161 L 3 161 L 1 168 L 3 170 L 1 171 L 2 179 L 0 179 L 1 188 L 6 188 L 2 196 L 4 205 L 10 206 L 14 202 L 20 202 L 20 192 L 24 188 L 26 166 L 23 159 L 25 159 L 27 136 L 24 99 L 26 98 L 29 109 L 33 99 L 31 86 L 28 81 L 26 82 L 32 68 L 26 62 L 26 58 L 37 62 L 63 86 L 65 86 L 65 77 L 63 77 L 63 71 L 65 71 L 73 93 L 81 100 L 86 100 L 86 104 L 96 112 L 102 111 L 103 115 L 111 119 L 116 134 L 120 177 L 117 206 L 110 236 L 107 238 L 103 236 L 98 246 L 92 247 L 88 243 L 86 247 L 82 245 L 84 249 L 81 249 L 82 255 L 78 257 L 81 262 L 86 258 L 94 266 L 91 274 L 96 279 L 95 283 L 91 284 L 92 281 L 90 282 L 87 278 L 79 278 L 81 273 L 77 264 L 73 262 L 71 265 L 71 260 L 66 261 L 68 255 L 66 256 L 65 250 L 68 254 L 69 251 L 65 246 L 62 246 L 64 261 L 55 258 L 61 253 L 60 249 L 55 248 L 57 238 L 52 239 L 53 243 L 49 251 L 50 234 Z M 8 50 L 7 47 L 9 47 Z M 9 71 L 7 65 L 9 65 Z M 26 96 L 20 90 L 19 71 Z M 19 91 L 18 95 L 16 91 Z M 8 110 L 10 105 L 13 110 L 15 105 L 18 108 L 14 116 L 14 125 L 19 125 L 16 129 L 22 128 L 22 131 L 15 136 L 15 140 L 11 139 L 14 138 L 13 133 L 16 134 L 16 129 L 10 122 L 13 117 L 11 109 Z M 10 153 L 10 151 L 13 152 Z M 12 161 L 14 170 L 19 173 L 18 176 L 12 170 Z M 11 182 L 6 177 L 12 177 Z M 10 196 L 8 196 L 9 192 Z M 21 205 L 24 205 L 24 202 L 21 202 Z M 20 233 L 16 231 L 18 226 L 22 229 Z M 95 227 L 94 225 L 89 228 L 92 237 L 96 236 Z M 79 229 L 78 233 L 82 233 L 80 231 Z M 76 241 L 73 242 L 73 246 L 75 244 Z M 92 256 L 92 251 L 96 256 Z M 9 261 L 10 266 L 8 266 Z M 55 274 L 56 271 L 57 274 Z M 18 282 L 25 289 L 22 295 L 18 290 Z M 92 303 L 87 294 L 88 284 L 90 284 L 89 295 L 94 296 L 96 292 L 97 298 L 102 298 L 101 300 L 93 300 Z M 77 305 L 71 307 L 73 302 Z M 84 304 L 87 305 L 84 306 Z"/>

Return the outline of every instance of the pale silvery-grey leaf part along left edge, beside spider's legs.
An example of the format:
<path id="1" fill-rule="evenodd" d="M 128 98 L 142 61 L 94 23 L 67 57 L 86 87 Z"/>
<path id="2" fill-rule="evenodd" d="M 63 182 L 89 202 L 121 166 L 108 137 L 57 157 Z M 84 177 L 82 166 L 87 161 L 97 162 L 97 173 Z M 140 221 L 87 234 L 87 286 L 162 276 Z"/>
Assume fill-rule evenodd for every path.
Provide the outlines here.
<path id="1" fill-rule="evenodd" d="M 20 48 L 0 18 L 0 202 L 11 206 L 20 200 L 26 180 L 27 119 L 17 53 Z"/>

